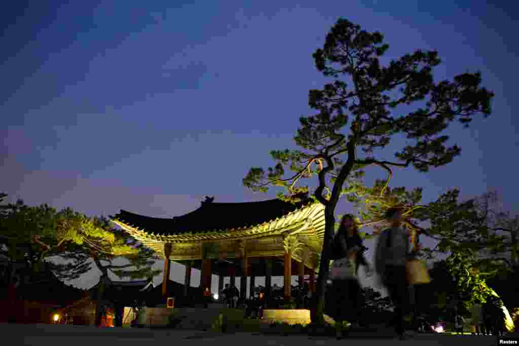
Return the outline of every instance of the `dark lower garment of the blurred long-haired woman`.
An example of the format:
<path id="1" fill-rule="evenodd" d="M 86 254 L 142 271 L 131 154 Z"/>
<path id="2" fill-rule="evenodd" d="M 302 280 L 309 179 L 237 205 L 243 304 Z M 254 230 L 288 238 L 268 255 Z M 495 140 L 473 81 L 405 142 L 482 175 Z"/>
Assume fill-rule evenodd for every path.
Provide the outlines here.
<path id="1" fill-rule="evenodd" d="M 362 300 L 359 281 L 356 278 L 334 280 L 332 287 L 331 301 L 335 306 L 335 321 L 360 322 Z"/>

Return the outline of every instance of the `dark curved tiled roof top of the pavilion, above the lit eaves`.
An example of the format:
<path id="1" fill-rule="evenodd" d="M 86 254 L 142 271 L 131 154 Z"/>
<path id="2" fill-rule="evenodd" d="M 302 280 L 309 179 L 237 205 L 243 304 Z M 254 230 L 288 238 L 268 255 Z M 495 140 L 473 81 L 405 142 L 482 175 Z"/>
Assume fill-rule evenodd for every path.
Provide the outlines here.
<path id="1" fill-rule="evenodd" d="M 245 203 L 202 202 L 193 212 L 173 218 L 149 217 L 121 210 L 113 220 L 155 234 L 196 234 L 248 228 L 294 212 L 309 202 L 292 204 L 279 199 Z"/>

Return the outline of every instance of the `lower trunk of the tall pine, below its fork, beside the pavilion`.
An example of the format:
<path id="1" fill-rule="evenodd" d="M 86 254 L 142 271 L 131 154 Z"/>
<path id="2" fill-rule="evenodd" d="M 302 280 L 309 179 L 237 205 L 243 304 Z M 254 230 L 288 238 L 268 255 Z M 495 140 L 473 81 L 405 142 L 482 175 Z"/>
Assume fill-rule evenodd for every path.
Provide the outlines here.
<path id="1" fill-rule="evenodd" d="M 335 216 L 333 215 L 333 208 L 329 206 L 324 207 L 324 240 L 321 253 L 321 262 L 319 264 L 319 275 L 317 277 L 315 298 L 313 299 L 313 306 L 310 309 L 310 321 L 313 325 L 320 325 L 324 323 L 324 296 L 326 293 L 326 281 L 330 271 L 330 250 L 331 241 L 335 228 Z"/>

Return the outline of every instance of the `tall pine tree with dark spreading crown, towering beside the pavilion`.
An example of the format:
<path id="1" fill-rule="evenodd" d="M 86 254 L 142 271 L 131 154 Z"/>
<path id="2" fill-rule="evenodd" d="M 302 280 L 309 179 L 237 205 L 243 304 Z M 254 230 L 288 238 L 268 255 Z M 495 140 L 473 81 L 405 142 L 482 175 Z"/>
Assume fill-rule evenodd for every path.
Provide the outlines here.
<path id="1" fill-rule="evenodd" d="M 447 146 L 444 130 L 453 121 L 468 127 L 474 116 L 490 114 L 494 94 L 480 87 L 480 73 L 435 82 L 433 68 L 441 63 L 438 52 L 416 50 L 382 66 L 379 58 L 388 48 L 379 32 L 370 33 L 339 19 L 323 48 L 313 54 L 318 71 L 333 81 L 309 91 L 309 106 L 317 114 L 299 119 L 294 140 L 301 149 L 271 151 L 275 167 L 267 173 L 253 167 L 243 179 L 244 186 L 256 191 L 282 186 L 288 190 L 283 198 L 290 199 L 297 192 L 309 191 L 308 186 L 296 185 L 301 178 L 318 177 L 313 196 L 325 206 L 326 229 L 312 323 L 323 321 L 339 197 L 354 194 L 356 179 L 373 165 L 392 174 L 392 167 L 427 172 L 451 162 L 461 149 Z M 380 149 L 399 135 L 409 145 L 401 147 L 393 159 L 381 157 Z M 358 154 L 359 148 L 363 155 Z M 294 175 L 286 177 L 285 168 Z"/>

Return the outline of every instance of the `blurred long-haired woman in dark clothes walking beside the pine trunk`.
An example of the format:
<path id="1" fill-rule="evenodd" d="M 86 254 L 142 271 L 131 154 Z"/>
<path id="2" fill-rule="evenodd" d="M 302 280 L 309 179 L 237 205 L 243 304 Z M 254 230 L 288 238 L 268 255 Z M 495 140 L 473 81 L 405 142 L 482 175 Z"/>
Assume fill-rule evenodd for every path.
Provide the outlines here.
<path id="1" fill-rule="evenodd" d="M 343 322 L 360 324 L 360 308 L 362 307 L 362 295 L 357 270 L 360 265 L 371 274 L 371 267 L 364 258 L 362 239 L 358 234 L 358 227 L 352 215 L 345 215 L 340 222 L 339 230 L 334 240 L 334 257 L 337 259 L 347 258 L 351 265 L 351 274 L 333 278 L 332 291 L 336 297 L 334 301 L 335 326 L 337 339 L 342 339 Z"/>

